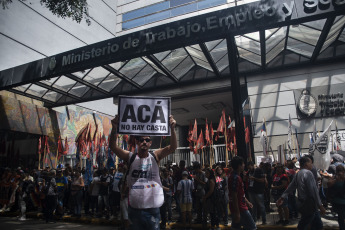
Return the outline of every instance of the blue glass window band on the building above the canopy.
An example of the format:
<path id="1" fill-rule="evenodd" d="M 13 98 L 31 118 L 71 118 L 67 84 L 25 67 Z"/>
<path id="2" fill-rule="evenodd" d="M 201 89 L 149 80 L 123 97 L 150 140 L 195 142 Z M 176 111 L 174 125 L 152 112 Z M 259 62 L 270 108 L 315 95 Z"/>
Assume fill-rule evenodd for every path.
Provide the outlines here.
<path id="1" fill-rule="evenodd" d="M 227 0 L 170 0 L 122 15 L 122 30 L 227 3 Z"/>

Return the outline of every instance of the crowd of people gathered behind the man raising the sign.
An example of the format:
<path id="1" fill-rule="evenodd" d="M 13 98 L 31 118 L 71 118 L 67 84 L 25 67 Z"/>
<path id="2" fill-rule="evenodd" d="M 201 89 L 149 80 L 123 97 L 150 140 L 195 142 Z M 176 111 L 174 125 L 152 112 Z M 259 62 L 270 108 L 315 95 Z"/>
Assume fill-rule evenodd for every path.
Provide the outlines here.
<path id="1" fill-rule="evenodd" d="M 299 218 L 298 229 L 310 224 L 312 229 L 322 229 L 320 213 L 331 208 L 343 230 L 345 168 L 342 156 L 335 154 L 329 170 L 324 172 L 313 167 L 310 156 L 300 159 L 300 168 L 296 165 L 293 159 L 285 165 L 260 163 L 256 166 L 248 162 L 245 167 L 240 157 L 233 158 L 229 167 L 225 162 L 213 166 L 193 162 L 187 167 L 183 160 L 179 165 L 168 161 L 160 167 L 164 203 L 160 207 L 159 227 L 165 229 L 172 221 L 179 221 L 186 228 L 191 223 L 206 227 L 210 222 L 212 229 L 219 229 L 220 224 L 228 225 L 231 216 L 234 229 L 241 226 L 256 229 L 259 219 L 261 224 L 267 223 L 266 213 L 273 211 L 270 203 L 276 202 L 280 220 L 275 224 L 288 225 L 291 219 Z M 25 220 L 26 212 L 42 211 L 47 222 L 66 214 L 77 218 L 86 215 L 122 219 L 123 227 L 129 228 L 128 187 L 124 180 L 127 171 L 124 163 L 116 168 L 94 169 L 90 180 L 85 178 L 85 169 L 70 165 L 43 170 L 2 168 L 1 212 L 19 210 L 19 220 Z M 315 204 L 309 208 L 312 215 L 299 210 L 298 203 L 307 205 L 307 197 L 313 198 Z"/>

